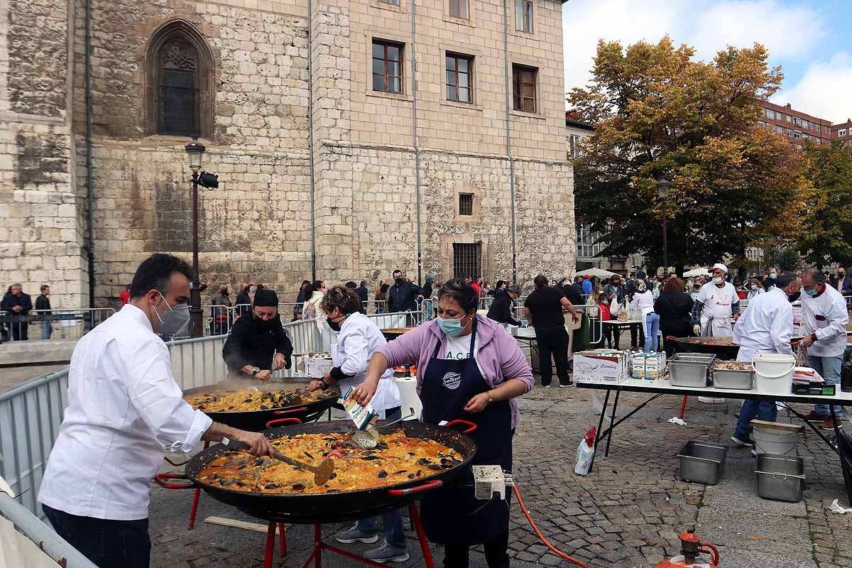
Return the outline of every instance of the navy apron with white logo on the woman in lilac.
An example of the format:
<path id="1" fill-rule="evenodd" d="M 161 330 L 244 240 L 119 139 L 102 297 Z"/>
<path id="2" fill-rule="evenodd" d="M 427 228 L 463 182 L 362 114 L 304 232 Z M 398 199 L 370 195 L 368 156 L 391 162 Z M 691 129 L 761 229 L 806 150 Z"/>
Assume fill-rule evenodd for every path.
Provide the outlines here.
<path id="1" fill-rule="evenodd" d="M 420 399 L 423 422 L 466 420 L 476 424 L 469 434 L 476 443 L 471 465 L 500 465 L 512 469 L 512 413 L 508 400 L 489 404 L 478 414 L 465 412 L 464 405 L 479 393 L 492 387 L 483 378 L 474 358 L 476 320 L 470 333 L 469 359 L 438 359 L 440 341 L 423 376 Z M 470 466 L 458 476 L 469 484 L 473 479 Z M 487 503 L 487 504 L 486 504 Z M 472 485 L 449 486 L 423 495 L 420 502 L 423 528 L 431 542 L 450 545 L 473 545 L 490 542 L 509 530 L 509 502 L 480 501 L 474 498 Z"/>

